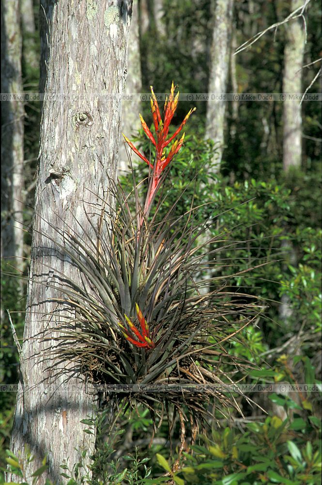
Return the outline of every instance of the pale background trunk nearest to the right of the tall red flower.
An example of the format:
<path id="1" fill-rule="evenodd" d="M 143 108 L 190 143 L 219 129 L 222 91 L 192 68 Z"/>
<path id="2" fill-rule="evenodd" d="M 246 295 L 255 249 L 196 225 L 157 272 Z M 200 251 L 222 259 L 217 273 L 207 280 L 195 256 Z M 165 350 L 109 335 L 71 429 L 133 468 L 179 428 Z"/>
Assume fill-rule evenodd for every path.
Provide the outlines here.
<path id="1" fill-rule="evenodd" d="M 217 0 L 214 9 L 214 30 L 210 57 L 209 93 L 226 93 L 230 65 L 231 29 L 234 0 Z M 215 171 L 220 169 L 224 147 L 224 126 L 227 101 L 211 99 L 207 103 L 206 139 L 214 140 L 217 153 Z"/>

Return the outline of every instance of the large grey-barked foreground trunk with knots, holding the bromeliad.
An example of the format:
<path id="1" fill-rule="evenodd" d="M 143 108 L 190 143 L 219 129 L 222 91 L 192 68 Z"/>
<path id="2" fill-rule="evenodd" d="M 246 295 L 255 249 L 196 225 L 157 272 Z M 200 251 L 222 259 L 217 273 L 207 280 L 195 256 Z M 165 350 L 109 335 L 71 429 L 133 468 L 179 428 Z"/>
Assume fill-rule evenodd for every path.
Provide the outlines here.
<path id="1" fill-rule="evenodd" d="M 80 287 L 84 282 L 70 258 L 53 242 L 68 244 L 76 233 L 86 244 L 91 222 L 99 224 L 102 198 L 110 194 L 115 179 L 121 120 L 121 100 L 126 73 L 127 41 L 132 2 L 112 0 L 42 0 L 50 26 L 46 95 L 41 122 L 41 142 L 30 283 L 21 356 L 11 449 L 21 453 L 24 480 L 42 465 L 49 465 L 38 480 L 61 480 L 60 465 L 70 469 L 87 452 L 90 462 L 94 436 L 80 420 L 93 416 L 96 396 L 77 362 L 54 355 L 57 327 L 75 327 L 76 315 L 54 298 L 68 275 Z M 114 96 L 115 95 L 115 96 Z M 96 210 L 95 210 L 96 209 Z M 61 237 L 56 230 L 64 231 Z M 89 288 L 86 289 L 90 291 Z M 63 313 L 63 315 L 62 315 Z M 74 323 L 73 323 L 74 322 Z M 61 334 L 60 334 L 61 336 Z M 35 456 L 26 462 L 26 448 Z M 8 474 L 7 480 L 17 480 Z M 23 481 L 22 479 L 18 479 Z"/>

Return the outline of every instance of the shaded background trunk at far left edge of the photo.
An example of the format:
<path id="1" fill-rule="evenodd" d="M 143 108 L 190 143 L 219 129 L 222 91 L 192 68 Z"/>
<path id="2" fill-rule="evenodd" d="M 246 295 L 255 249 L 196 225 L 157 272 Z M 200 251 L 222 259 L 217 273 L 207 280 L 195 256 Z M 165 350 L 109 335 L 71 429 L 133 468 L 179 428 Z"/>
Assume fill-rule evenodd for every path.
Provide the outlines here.
<path id="1" fill-rule="evenodd" d="M 1 93 L 12 94 L 1 103 L 1 258 L 14 259 L 23 268 L 23 136 L 21 99 L 21 32 L 19 1 L 1 1 Z M 13 261 L 11 261 L 13 262 Z"/>

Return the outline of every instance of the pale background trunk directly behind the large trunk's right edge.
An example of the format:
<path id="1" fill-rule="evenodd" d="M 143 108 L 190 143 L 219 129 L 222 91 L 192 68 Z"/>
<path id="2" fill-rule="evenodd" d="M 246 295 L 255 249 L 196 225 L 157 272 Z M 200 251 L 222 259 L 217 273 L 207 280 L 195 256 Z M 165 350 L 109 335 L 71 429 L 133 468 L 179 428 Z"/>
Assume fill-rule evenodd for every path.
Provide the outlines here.
<path id="1" fill-rule="evenodd" d="M 138 0 L 134 0 L 128 47 L 128 72 L 124 89 L 125 99 L 123 100 L 122 105 L 121 124 L 121 132 L 124 133 L 124 135 L 126 135 L 128 138 L 131 138 L 131 136 L 141 128 L 141 123 L 138 117 L 141 104 L 139 95 L 142 90 L 140 39 L 138 24 Z M 129 96 L 130 99 L 126 99 L 127 96 Z M 124 139 L 121 135 L 118 165 L 118 170 L 121 175 L 124 174 L 124 172 L 128 172 L 129 169 L 129 160 L 127 153 L 128 150 L 126 150 L 125 148 Z M 136 163 L 138 160 L 138 157 L 132 152 L 132 163 Z"/>

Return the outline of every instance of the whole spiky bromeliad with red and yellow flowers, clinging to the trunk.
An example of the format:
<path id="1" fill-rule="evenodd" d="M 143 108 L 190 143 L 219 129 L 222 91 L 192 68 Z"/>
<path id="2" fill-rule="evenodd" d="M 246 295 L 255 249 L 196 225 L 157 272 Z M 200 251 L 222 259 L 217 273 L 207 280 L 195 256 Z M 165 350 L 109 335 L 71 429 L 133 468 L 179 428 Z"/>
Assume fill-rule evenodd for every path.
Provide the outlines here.
<path id="1" fill-rule="evenodd" d="M 57 329 L 59 352 L 76 358 L 94 382 L 119 386 L 167 385 L 167 391 L 125 392 L 114 398 L 133 406 L 138 403 L 147 406 L 155 429 L 156 422 L 160 425 L 164 412 L 169 416 L 169 406 L 173 406 L 172 419 L 177 412 L 181 421 L 180 454 L 184 448 L 185 421 L 190 420 L 194 439 L 200 422 L 209 414 L 212 398 L 221 403 L 216 408 L 224 416 L 231 406 L 239 410 L 234 398 L 206 386 L 232 383 L 230 374 L 222 371 L 225 363 L 232 364 L 232 373 L 249 367 L 249 363 L 231 356 L 223 344 L 231 337 L 238 338 L 238 332 L 257 318 L 260 308 L 254 298 L 247 299 L 246 295 L 226 289 L 227 276 L 203 279 L 205 268 L 209 272 L 209 267 L 216 264 L 216 251 L 225 244 L 231 247 L 233 242 L 226 241 L 223 234 L 206 240 L 206 227 L 195 222 L 198 207 L 193 207 L 193 201 L 179 217 L 174 215 L 174 204 L 160 218 L 161 195 L 153 217 L 149 217 L 166 168 L 183 146 L 184 135 L 174 141 L 168 155 L 165 149 L 194 111 L 189 111 L 167 139 L 178 104 L 179 93 L 174 91 L 172 83 L 162 121 L 152 90 L 155 139 L 141 118 L 143 129 L 155 146 L 154 164 L 125 138 L 150 167 L 149 190 L 143 207 L 141 184 L 134 183 L 129 193 L 114 185 L 113 203 L 102 200 L 99 226 L 92 218 L 96 208 L 85 208 L 94 237 L 85 233 L 80 238 L 75 231 L 56 228 L 61 241 L 68 240 L 68 245 L 53 242 L 77 266 L 83 284 L 57 275 L 61 283 L 50 285 L 62 294 L 57 301 L 66 306 L 66 313 L 71 306 L 75 311 L 77 331 L 66 324 Z M 181 196 L 178 195 L 177 202 Z M 210 253 L 213 258 L 210 262 L 209 245 L 213 243 L 219 249 Z M 174 387 L 169 388 L 170 385 Z M 202 392 L 191 392 L 191 386 L 200 385 L 204 386 Z"/>

